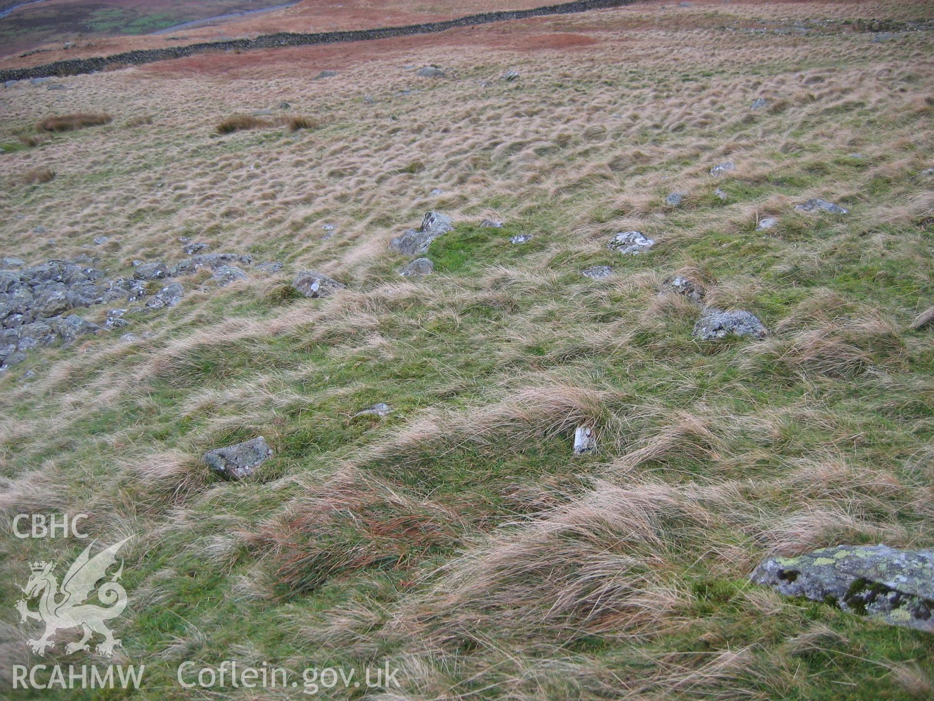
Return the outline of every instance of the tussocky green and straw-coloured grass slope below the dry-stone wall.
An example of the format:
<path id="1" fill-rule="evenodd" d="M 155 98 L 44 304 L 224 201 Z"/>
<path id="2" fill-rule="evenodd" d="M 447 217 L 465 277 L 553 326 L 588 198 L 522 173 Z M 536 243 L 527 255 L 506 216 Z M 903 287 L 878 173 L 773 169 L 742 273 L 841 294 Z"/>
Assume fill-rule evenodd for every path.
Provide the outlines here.
<path id="1" fill-rule="evenodd" d="M 230 659 L 389 661 L 387 699 L 930 698 L 929 635 L 747 578 L 771 553 L 934 546 L 934 329 L 910 328 L 934 305 L 934 54 L 909 23 L 932 9 L 647 5 L 381 43 L 329 79 L 309 48 L 0 93 L 4 254 L 116 277 L 188 236 L 285 264 L 179 278 L 177 307 L 0 376 L 2 675 L 34 634 L 28 562 L 61 575 L 86 546 L 7 522 L 68 511 L 134 535 L 114 625 L 147 665 L 134 699 L 306 697 L 175 680 Z M 873 19 L 888 40 L 857 31 Z M 315 128 L 277 125 L 295 114 Z M 814 197 L 849 212 L 795 210 Z M 429 210 L 455 229 L 403 279 L 389 241 Z M 607 249 L 628 230 L 655 247 Z M 347 289 L 297 296 L 307 268 Z M 768 336 L 692 337 L 676 274 Z M 392 413 L 355 416 L 375 402 Z M 579 424 L 595 453 L 573 455 Z M 254 436 L 275 451 L 255 478 L 208 474 L 205 451 Z"/>

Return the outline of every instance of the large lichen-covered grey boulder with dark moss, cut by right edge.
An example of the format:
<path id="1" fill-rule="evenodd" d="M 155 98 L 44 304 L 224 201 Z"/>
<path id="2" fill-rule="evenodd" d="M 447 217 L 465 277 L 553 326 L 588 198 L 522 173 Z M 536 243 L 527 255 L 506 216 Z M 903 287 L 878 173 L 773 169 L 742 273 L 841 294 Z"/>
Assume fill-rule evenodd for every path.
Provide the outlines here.
<path id="1" fill-rule="evenodd" d="M 770 557 L 750 579 L 786 596 L 934 633 L 934 550 L 837 545 L 798 557 Z"/>

